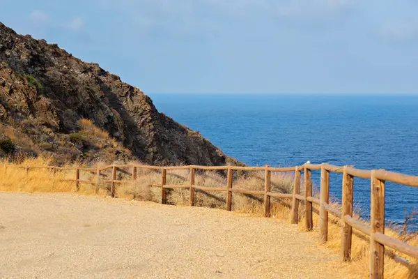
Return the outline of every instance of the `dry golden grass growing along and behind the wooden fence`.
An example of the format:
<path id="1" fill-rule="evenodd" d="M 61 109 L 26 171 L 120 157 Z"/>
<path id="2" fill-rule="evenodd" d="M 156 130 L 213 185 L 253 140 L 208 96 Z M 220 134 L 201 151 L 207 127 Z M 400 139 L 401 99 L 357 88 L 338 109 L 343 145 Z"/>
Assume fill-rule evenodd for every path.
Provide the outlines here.
<path id="1" fill-rule="evenodd" d="M 47 166 L 52 162 L 49 158 L 26 159 L 22 165 L 42 165 Z M 6 162 L 3 162 L 3 164 Z M 98 164 L 99 165 L 99 164 Z M 118 180 L 128 180 L 132 176 L 132 169 L 121 169 L 118 172 Z M 91 181 L 91 184 L 80 184 L 79 193 L 93 194 L 95 193 L 95 173 L 81 172 L 80 179 Z M 109 194 L 109 183 L 102 183 L 105 179 L 110 179 L 111 169 L 102 172 L 100 183 L 98 184 L 98 194 Z M 5 174 L 4 169 L 0 167 L 0 190 L 1 191 L 19 191 L 19 192 L 70 192 L 75 190 L 75 182 L 55 181 L 52 178 L 50 169 L 32 169 L 29 175 L 26 175 L 25 169 L 17 169 L 8 167 Z M 57 179 L 74 179 L 75 172 L 57 172 Z M 288 173 L 272 173 L 272 192 L 292 193 L 293 191 L 293 174 Z M 137 180 L 129 183 L 123 183 L 117 186 L 116 196 L 124 199 L 149 200 L 153 202 L 161 202 L 161 188 L 155 187 L 161 183 L 161 172 L 153 169 L 138 169 Z M 167 184 L 169 185 L 188 185 L 189 170 L 168 170 Z M 224 172 L 196 171 L 195 184 L 207 187 L 225 187 L 226 175 Z M 246 190 L 263 190 L 264 176 L 263 172 L 251 172 L 250 174 L 235 173 L 233 188 Z M 168 190 L 169 204 L 178 206 L 189 205 L 189 190 Z M 225 192 L 205 192 L 196 190 L 195 193 L 196 206 L 206 206 L 210 208 L 225 209 L 226 193 Z M 272 217 L 281 218 L 290 221 L 290 204 L 289 199 L 272 198 Z M 334 206 L 339 206 L 334 204 Z M 304 206 L 300 206 L 300 230 L 304 230 Z M 314 206 L 314 210 L 318 210 Z M 233 194 L 233 211 L 240 213 L 249 213 L 254 216 L 263 216 L 263 197 L 253 195 Z M 318 229 L 319 216 L 314 213 L 314 231 Z M 329 241 L 324 245 L 332 250 L 339 251 L 341 246 L 341 220 L 330 216 L 328 229 Z M 353 246 L 352 246 L 352 262 L 343 263 L 343 267 L 350 271 L 350 278 L 367 278 L 369 276 L 369 239 L 361 233 L 353 229 Z M 417 237 L 410 238 L 401 233 L 401 229 L 389 227 L 385 232 L 387 235 L 396 239 L 408 239 L 408 243 L 418 246 Z M 392 251 L 393 252 L 393 251 Z M 394 253 L 396 254 L 396 253 Z M 397 254 L 396 254 L 397 255 Z M 417 259 L 406 257 L 412 265 L 405 267 L 403 264 L 397 263 L 393 257 L 385 257 L 385 278 L 418 278 Z M 415 266 L 415 268 L 411 268 Z"/>

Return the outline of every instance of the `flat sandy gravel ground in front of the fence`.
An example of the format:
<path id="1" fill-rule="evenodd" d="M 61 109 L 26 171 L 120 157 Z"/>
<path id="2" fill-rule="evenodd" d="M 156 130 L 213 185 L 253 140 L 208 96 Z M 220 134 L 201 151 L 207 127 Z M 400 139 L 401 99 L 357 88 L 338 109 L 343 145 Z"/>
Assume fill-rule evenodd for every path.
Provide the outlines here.
<path id="1" fill-rule="evenodd" d="M 314 236 L 217 209 L 0 193 L 0 278 L 341 278 Z"/>

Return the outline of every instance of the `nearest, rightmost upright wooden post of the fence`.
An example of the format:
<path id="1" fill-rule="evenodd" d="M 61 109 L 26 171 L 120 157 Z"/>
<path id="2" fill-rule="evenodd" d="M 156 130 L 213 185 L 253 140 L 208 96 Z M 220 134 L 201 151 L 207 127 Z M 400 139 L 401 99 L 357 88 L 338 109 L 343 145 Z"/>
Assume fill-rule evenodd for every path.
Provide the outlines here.
<path id="1" fill-rule="evenodd" d="M 385 234 L 385 181 L 376 178 L 376 170 L 371 171 L 370 212 L 370 278 L 383 278 L 385 246 L 374 239 L 374 234 Z"/>

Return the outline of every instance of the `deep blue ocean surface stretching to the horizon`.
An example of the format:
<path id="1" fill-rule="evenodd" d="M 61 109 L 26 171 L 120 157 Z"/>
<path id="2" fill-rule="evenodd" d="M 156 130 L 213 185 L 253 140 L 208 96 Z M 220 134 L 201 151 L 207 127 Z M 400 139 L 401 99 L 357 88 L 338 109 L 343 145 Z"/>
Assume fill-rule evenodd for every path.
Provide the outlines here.
<path id="1" fill-rule="evenodd" d="M 247 165 L 354 165 L 418 175 L 418 96 L 150 94 L 157 109 Z M 320 185 L 320 172 L 312 172 Z M 341 174 L 330 175 L 341 198 Z M 355 178 L 355 204 L 369 217 L 370 181 Z M 387 222 L 418 208 L 418 188 L 387 183 Z"/>

